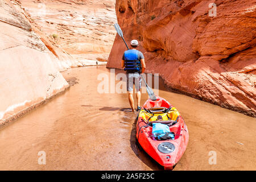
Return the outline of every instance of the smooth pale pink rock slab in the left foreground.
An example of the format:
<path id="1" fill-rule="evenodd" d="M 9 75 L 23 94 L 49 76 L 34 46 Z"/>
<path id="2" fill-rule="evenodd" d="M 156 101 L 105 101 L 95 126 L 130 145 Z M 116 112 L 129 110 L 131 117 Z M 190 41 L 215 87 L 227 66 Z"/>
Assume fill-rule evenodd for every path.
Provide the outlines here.
<path id="1" fill-rule="evenodd" d="M 56 57 L 10 1 L 0 1 L 0 126 L 68 88 Z"/>

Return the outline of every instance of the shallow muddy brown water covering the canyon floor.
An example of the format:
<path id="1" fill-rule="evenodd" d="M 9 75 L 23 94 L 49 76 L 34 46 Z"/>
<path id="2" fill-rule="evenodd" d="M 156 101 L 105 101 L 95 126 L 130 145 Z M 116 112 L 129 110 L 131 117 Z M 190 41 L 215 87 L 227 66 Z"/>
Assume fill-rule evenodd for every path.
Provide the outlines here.
<path id="1" fill-rule="evenodd" d="M 63 72 L 78 83 L 0 129 L 0 169 L 162 170 L 135 144 L 136 114 L 127 109 L 127 94 L 97 92 L 100 73 L 110 75 L 104 66 Z M 159 87 L 189 130 L 174 170 L 256 169 L 255 118 L 170 92 L 161 80 Z M 142 104 L 146 99 L 144 93 Z M 38 164 L 39 151 L 46 152 L 46 164 Z M 216 164 L 209 164 L 210 151 Z"/>

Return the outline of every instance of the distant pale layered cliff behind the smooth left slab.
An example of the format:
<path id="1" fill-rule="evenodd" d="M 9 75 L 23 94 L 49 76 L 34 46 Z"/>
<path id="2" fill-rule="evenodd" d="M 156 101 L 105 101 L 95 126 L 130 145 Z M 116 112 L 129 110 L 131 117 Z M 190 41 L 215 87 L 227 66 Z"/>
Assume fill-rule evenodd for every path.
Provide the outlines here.
<path id="1" fill-rule="evenodd" d="M 52 52 L 59 50 L 56 56 L 63 56 L 61 52 L 66 54 L 62 60 L 67 60 L 68 54 L 74 67 L 85 59 L 108 60 L 115 38 L 113 24 L 117 22 L 114 0 L 15 2 L 26 11 L 40 34 L 44 34 L 47 47 Z"/>

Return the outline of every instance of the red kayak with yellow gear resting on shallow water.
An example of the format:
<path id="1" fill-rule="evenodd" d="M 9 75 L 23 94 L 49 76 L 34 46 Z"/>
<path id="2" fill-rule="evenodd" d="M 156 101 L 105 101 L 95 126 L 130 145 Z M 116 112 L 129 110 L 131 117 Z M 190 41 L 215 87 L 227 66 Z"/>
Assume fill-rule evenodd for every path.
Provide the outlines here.
<path id="1" fill-rule="evenodd" d="M 156 98 L 156 101 L 147 100 L 139 111 L 136 138 L 148 155 L 164 169 L 172 170 L 187 147 L 188 129 L 174 106 L 159 96 Z M 152 126 L 156 125 L 154 123 L 167 125 L 173 134 L 172 138 L 155 138 L 152 134 Z"/>

